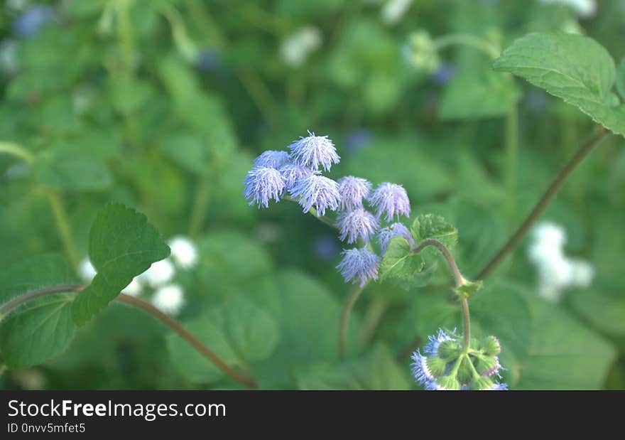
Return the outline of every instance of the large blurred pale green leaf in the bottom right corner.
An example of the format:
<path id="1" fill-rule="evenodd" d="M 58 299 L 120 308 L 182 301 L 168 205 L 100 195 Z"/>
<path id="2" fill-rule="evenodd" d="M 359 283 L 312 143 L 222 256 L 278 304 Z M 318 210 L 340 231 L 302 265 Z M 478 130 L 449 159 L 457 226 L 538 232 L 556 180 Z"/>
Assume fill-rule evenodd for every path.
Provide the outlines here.
<path id="1" fill-rule="evenodd" d="M 533 338 L 517 387 L 526 390 L 596 390 L 616 350 L 558 306 L 530 299 Z"/>

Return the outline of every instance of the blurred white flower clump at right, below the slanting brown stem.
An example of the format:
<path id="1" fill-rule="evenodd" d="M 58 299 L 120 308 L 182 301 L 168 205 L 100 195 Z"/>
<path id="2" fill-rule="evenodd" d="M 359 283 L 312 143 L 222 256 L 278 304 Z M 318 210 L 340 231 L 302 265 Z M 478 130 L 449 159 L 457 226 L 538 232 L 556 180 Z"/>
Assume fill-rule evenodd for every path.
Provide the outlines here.
<path id="1" fill-rule="evenodd" d="M 560 225 L 543 222 L 533 230 L 528 258 L 538 269 L 538 295 L 551 302 L 562 299 L 570 287 L 588 287 L 594 277 L 591 264 L 567 257 L 566 232 Z"/>

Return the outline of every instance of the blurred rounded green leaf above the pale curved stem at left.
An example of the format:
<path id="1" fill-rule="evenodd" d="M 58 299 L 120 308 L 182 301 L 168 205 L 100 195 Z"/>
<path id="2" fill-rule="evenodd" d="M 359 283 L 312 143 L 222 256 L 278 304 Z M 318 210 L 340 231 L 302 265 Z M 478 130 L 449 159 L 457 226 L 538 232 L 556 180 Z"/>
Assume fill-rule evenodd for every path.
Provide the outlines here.
<path id="1" fill-rule="evenodd" d="M 113 181 L 104 162 L 91 152 L 63 148 L 39 154 L 33 175 L 45 186 L 70 191 L 102 190 Z"/>

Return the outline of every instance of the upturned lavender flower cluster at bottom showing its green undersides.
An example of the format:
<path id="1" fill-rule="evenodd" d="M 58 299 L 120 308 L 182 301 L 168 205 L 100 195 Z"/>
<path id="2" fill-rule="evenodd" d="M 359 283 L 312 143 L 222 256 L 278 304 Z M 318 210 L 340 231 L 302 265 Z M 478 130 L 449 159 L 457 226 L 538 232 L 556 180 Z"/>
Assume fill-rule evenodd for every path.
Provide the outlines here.
<path id="1" fill-rule="evenodd" d="M 471 341 L 463 350 L 456 331 L 439 329 L 436 336 L 429 337 L 423 354 L 420 350 L 412 355 L 413 375 L 425 390 L 507 390 L 508 385 L 498 382 L 501 345 L 495 336 L 482 341 Z"/>

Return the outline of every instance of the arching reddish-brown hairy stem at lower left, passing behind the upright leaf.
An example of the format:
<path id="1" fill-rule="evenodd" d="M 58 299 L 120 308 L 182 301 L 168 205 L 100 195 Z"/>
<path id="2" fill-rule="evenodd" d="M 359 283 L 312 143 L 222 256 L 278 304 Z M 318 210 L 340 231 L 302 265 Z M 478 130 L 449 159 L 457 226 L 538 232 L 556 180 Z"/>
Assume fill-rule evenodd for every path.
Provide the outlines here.
<path id="1" fill-rule="evenodd" d="M 11 301 L 7 302 L 3 306 L 0 306 L 0 321 L 4 316 L 9 314 L 13 309 L 21 304 L 26 303 L 27 301 L 31 301 L 32 299 L 39 298 L 40 296 L 50 295 L 50 294 L 59 294 L 65 292 L 79 292 L 82 289 L 85 289 L 85 286 L 79 285 L 64 285 L 64 286 L 50 286 L 45 289 L 40 289 L 36 291 L 30 291 L 21 296 L 17 296 Z M 230 377 L 235 382 L 239 382 L 241 385 L 244 385 L 249 388 L 258 388 L 256 381 L 249 376 L 241 375 L 239 372 L 229 367 L 227 363 L 224 363 L 222 358 L 219 358 L 217 354 L 215 354 L 210 348 L 207 348 L 206 345 L 202 344 L 199 339 L 195 338 L 191 333 L 187 331 L 178 321 L 171 318 L 168 315 L 165 315 L 162 311 L 158 310 L 158 308 L 154 307 L 152 304 L 143 301 L 143 299 L 135 298 L 134 296 L 119 294 L 116 296 L 115 301 L 118 301 L 123 304 L 129 304 L 130 306 L 134 306 L 136 308 L 141 308 L 141 310 L 150 313 L 154 318 L 158 319 L 165 326 L 168 326 L 173 331 L 178 333 L 178 335 L 186 340 L 195 350 L 198 351 L 202 356 L 210 360 L 214 365 L 216 365 L 219 370 L 222 370 L 228 377 Z"/>

